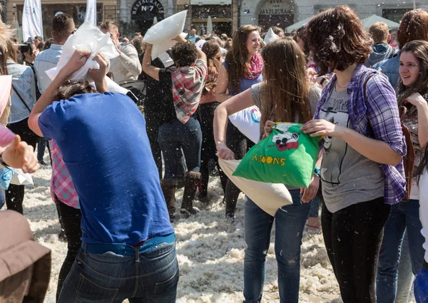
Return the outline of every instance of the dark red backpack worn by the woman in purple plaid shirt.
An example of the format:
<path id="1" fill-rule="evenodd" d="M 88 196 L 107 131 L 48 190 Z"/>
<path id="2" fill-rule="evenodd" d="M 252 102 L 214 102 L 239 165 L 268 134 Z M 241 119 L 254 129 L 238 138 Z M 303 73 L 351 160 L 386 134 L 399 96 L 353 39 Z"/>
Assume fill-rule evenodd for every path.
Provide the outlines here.
<path id="1" fill-rule="evenodd" d="M 364 100 L 366 100 L 366 90 L 367 90 L 367 82 L 374 76 L 375 73 L 371 73 L 367 76 L 364 82 Z M 412 176 L 413 176 L 413 168 L 414 168 L 414 145 L 412 142 L 412 136 L 410 135 L 410 130 L 403 123 L 403 119 L 405 118 L 407 113 L 407 108 L 404 106 L 399 107 L 399 120 L 402 126 L 402 132 L 404 135 L 404 140 L 406 141 L 406 155 L 403 156 L 403 165 L 404 165 L 404 176 L 406 177 L 406 190 L 407 194 L 403 198 L 404 201 L 410 200 L 410 192 L 412 190 Z"/>

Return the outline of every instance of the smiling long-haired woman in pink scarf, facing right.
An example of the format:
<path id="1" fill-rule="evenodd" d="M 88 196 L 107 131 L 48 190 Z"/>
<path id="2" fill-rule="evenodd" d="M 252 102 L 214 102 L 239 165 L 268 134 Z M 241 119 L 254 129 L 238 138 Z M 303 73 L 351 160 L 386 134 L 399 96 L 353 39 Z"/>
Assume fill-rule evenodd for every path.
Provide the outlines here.
<path id="1" fill-rule="evenodd" d="M 255 83 L 263 80 L 263 59 L 260 56 L 260 34 L 257 26 L 241 26 L 233 35 L 233 46 L 226 55 L 225 62 L 218 73 L 215 98 L 222 103 L 232 96 L 246 91 Z M 250 143 L 232 123 L 228 125 L 227 144 L 235 153 L 235 158 L 242 159 Z M 235 220 L 235 208 L 240 190 L 227 181 L 225 190 L 226 219 Z"/>

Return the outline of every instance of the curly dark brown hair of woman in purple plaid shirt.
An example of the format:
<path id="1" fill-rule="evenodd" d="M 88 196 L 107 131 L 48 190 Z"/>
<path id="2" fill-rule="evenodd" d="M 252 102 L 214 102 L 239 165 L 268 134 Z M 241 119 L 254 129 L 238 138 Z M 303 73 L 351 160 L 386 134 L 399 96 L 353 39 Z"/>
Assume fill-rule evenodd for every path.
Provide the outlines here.
<path id="1" fill-rule="evenodd" d="M 349 6 L 317 14 L 306 26 L 306 37 L 321 75 L 365 63 L 372 51 L 370 34 Z"/>

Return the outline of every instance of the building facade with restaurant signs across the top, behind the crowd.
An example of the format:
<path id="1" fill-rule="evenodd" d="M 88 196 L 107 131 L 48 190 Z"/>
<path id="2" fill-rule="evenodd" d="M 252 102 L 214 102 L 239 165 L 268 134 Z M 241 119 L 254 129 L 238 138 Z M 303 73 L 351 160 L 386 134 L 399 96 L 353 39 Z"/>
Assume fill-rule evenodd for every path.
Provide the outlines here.
<path id="1" fill-rule="evenodd" d="M 24 0 L 0 1 L 4 2 L 6 23 L 15 26 L 18 21 L 21 26 Z M 51 19 L 59 11 L 73 16 L 76 26 L 83 23 L 86 0 L 41 0 L 41 3 L 46 37 L 51 36 Z M 113 20 L 129 25 L 130 32 L 132 29 L 145 33 L 154 22 L 185 10 L 188 12 L 185 31 L 194 28 L 198 34 L 210 34 L 206 32 L 210 16 L 216 34 L 231 36 L 245 24 L 285 29 L 337 4 L 337 0 L 97 0 L 97 20 Z M 402 0 L 341 0 L 340 4 L 354 8 L 361 19 L 376 14 L 396 22 L 412 9 L 412 1 Z M 417 0 L 416 5 L 428 10 L 427 0 Z"/>

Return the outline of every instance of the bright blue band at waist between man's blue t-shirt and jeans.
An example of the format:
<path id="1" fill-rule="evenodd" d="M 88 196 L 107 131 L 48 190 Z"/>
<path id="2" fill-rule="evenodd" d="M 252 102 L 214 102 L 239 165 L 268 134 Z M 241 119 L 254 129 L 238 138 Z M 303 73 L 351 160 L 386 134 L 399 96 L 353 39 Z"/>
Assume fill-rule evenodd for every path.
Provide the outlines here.
<path id="1" fill-rule="evenodd" d="M 103 255 L 106 252 L 114 252 L 116 255 L 122 256 L 133 256 L 141 255 L 145 252 L 150 252 L 154 250 L 158 245 L 162 243 L 172 243 L 175 242 L 175 234 L 159 236 L 151 238 L 138 247 L 133 247 L 127 244 L 121 243 L 86 243 L 82 242 L 82 249 L 91 254 Z"/>

